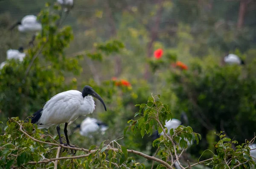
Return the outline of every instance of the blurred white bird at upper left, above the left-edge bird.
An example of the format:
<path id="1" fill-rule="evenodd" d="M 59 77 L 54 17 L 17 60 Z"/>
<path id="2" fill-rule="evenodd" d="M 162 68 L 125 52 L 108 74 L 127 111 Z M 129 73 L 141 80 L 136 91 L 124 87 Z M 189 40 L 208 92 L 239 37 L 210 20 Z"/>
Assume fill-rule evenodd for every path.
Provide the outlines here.
<path id="1" fill-rule="evenodd" d="M 37 21 L 35 15 L 26 15 L 21 21 L 18 21 L 13 25 L 10 30 L 18 26 L 20 32 L 38 32 L 42 30 L 42 25 Z"/>

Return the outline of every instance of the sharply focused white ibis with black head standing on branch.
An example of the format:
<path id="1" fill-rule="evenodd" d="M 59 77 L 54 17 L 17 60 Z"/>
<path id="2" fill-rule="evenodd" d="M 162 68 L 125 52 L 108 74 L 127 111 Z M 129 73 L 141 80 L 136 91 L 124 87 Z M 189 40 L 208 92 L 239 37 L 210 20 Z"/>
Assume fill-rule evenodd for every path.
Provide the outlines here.
<path id="1" fill-rule="evenodd" d="M 89 96 L 91 95 L 91 96 Z M 96 97 L 105 106 L 102 98 L 90 86 L 84 86 L 82 92 L 69 90 L 53 96 L 44 107 L 32 115 L 31 123 L 37 124 L 38 129 L 49 128 L 57 125 L 60 143 L 63 144 L 60 134 L 60 124 L 65 123 L 64 133 L 67 140 L 67 146 L 70 142 L 67 136 L 67 125 L 71 124 L 79 116 L 85 116 L 93 113 L 95 109 L 93 97 Z"/>

